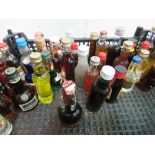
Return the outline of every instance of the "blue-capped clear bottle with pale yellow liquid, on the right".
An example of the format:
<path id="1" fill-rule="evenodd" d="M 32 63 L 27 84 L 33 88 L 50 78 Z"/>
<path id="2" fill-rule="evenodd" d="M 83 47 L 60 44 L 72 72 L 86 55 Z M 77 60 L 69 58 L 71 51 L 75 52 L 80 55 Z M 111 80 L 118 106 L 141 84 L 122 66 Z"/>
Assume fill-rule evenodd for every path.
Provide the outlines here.
<path id="1" fill-rule="evenodd" d="M 128 67 L 128 71 L 123 79 L 123 88 L 122 92 L 130 92 L 134 86 L 134 83 L 137 83 L 140 79 L 139 72 L 137 71 L 138 65 L 141 63 L 141 58 L 139 56 L 134 56 Z"/>

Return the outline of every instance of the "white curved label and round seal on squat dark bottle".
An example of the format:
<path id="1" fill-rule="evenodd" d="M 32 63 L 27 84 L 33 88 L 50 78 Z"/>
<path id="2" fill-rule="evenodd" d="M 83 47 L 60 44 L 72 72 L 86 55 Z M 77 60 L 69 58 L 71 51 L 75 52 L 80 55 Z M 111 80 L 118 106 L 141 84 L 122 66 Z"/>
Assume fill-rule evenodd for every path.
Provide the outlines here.
<path id="1" fill-rule="evenodd" d="M 27 100 L 27 95 L 22 95 L 21 98 L 23 100 Z M 32 108 L 34 108 L 38 103 L 38 99 L 36 96 L 33 97 L 33 99 L 25 104 L 20 104 L 19 107 L 23 110 L 23 111 L 28 111 L 31 110 Z"/>

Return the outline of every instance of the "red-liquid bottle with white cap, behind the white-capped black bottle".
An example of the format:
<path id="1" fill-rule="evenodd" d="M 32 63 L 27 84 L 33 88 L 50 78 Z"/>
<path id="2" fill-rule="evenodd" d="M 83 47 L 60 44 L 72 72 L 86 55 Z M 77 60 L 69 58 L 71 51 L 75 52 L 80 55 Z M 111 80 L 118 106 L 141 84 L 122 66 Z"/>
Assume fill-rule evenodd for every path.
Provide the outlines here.
<path id="1" fill-rule="evenodd" d="M 92 56 L 90 59 L 90 67 L 87 69 L 86 71 L 86 75 L 85 75 L 85 84 L 84 84 L 84 91 L 85 94 L 88 95 L 92 84 L 94 83 L 94 81 L 96 81 L 96 79 L 99 76 L 99 71 L 98 71 L 98 65 L 100 63 L 100 58 L 97 56 Z"/>

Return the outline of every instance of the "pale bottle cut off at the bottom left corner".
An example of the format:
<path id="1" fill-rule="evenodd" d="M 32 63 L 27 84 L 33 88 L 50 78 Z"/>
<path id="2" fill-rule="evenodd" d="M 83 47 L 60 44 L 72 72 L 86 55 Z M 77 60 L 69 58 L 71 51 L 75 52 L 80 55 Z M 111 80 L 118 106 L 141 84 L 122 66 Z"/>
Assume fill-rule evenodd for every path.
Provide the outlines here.
<path id="1" fill-rule="evenodd" d="M 0 135 L 10 135 L 12 129 L 12 124 L 0 114 Z"/>

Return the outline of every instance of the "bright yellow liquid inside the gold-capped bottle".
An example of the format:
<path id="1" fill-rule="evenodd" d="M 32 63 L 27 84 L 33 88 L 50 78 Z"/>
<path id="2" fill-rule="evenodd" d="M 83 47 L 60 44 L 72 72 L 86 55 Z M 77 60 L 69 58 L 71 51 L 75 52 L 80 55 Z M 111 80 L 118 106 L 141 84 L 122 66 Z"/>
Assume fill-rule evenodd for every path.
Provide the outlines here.
<path id="1" fill-rule="evenodd" d="M 33 82 L 37 88 L 38 99 L 42 104 L 50 104 L 53 101 L 53 91 L 50 85 L 50 75 L 48 72 L 40 76 L 33 74 Z"/>

